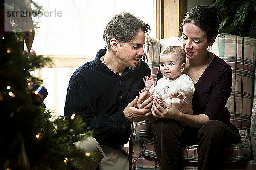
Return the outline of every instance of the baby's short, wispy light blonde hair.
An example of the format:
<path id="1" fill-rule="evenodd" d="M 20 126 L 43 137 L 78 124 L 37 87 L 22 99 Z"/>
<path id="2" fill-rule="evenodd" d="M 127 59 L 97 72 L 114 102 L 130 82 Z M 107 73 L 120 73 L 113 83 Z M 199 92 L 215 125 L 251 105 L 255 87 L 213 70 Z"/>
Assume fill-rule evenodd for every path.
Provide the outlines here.
<path id="1" fill-rule="evenodd" d="M 186 63 L 186 53 L 185 50 L 181 46 L 169 46 L 164 49 L 160 57 L 166 54 L 177 55 L 182 63 Z"/>

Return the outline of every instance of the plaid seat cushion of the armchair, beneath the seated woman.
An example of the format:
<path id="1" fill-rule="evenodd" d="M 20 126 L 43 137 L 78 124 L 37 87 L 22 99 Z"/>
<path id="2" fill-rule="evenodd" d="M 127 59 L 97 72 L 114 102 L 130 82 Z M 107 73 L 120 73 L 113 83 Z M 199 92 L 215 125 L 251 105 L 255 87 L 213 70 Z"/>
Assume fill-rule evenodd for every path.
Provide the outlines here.
<path id="1" fill-rule="evenodd" d="M 243 161 L 252 155 L 250 134 L 247 130 L 239 130 L 242 143 L 232 144 L 226 148 L 226 162 Z M 198 162 L 197 145 L 181 147 L 181 160 L 186 162 Z M 146 138 L 143 144 L 143 156 L 156 159 L 153 138 Z"/>

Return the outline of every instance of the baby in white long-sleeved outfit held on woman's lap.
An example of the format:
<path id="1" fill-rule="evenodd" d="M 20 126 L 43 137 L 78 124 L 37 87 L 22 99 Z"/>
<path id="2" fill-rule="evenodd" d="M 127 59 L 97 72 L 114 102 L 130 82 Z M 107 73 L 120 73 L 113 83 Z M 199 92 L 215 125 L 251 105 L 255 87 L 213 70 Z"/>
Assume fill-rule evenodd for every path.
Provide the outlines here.
<path id="1" fill-rule="evenodd" d="M 163 74 L 163 78 L 159 79 L 157 86 L 154 87 L 152 76 L 145 76 L 145 79 L 143 78 L 145 88 L 141 92 L 148 88 L 151 95 L 156 98 L 161 97 L 178 110 L 182 108 L 180 100 L 184 100 L 192 107 L 192 95 L 195 91 L 195 85 L 188 75 L 183 74 L 185 64 L 186 53 L 181 46 L 167 47 L 160 54 L 160 71 Z M 157 100 L 157 102 L 163 106 L 160 100 Z M 190 109 L 186 113 L 193 114 L 193 111 Z"/>

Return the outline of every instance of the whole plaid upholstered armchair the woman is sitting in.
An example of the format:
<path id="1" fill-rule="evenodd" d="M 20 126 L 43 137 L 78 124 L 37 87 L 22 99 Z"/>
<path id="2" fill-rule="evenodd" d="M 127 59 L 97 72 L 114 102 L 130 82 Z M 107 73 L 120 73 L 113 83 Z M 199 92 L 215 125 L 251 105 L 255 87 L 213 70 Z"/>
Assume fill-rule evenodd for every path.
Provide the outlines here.
<path id="1" fill-rule="evenodd" d="M 161 40 L 146 37 L 145 61 L 151 68 L 154 84 L 160 52 L 171 45 L 181 46 L 178 37 Z M 254 91 L 256 39 L 219 34 L 209 50 L 232 67 L 232 93 L 226 107 L 231 113 L 231 122 L 239 129 L 242 138 L 242 144 L 232 144 L 226 148 L 226 163 L 223 164 L 223 169 L 256 170 L 256 92 Z M 132 124 L 129 144 L 132 170 L 160 169 L 154 149 L 152 127 L 153 125 L 147 120 Z M 196 150 L 197 145 L 182 147 L 183 163 L 180 169 L 197 170 Z"/>

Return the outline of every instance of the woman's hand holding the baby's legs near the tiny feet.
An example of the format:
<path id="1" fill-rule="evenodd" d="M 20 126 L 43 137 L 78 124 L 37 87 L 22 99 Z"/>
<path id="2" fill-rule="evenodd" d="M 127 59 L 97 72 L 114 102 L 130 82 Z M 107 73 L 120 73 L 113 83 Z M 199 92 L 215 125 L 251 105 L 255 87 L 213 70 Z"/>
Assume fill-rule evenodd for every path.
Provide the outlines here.
<path id="1" fill-rule="evenodd" d="M 160 104 L 157 102 L 157 98 L 153 99 L 151 111 L 154 118 L 169 118 L 176 120 L 181 112 L 178 109 L 176 109 L 176 107 L 174 107 L 173 105 L 163 101 L 163 99 L 160 98 L 160 100 L 163 103 L 163 107 L 160 106 Z"/>

